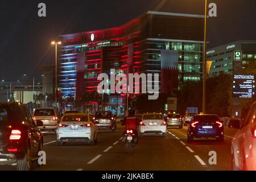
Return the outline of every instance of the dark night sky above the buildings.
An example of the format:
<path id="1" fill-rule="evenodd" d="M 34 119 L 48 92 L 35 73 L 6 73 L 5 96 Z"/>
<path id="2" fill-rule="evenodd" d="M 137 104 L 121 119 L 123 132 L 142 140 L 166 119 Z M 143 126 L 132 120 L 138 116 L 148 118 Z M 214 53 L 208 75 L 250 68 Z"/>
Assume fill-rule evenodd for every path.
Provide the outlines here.
<path id="1" fill-rule="evenodd" d="M 38 4 L 47 16 L 39 18 Z M 256 0 L 208 0 L 217 18 L 208 20 L 208 47 L 240 39 L 256 40 Z M 0 1 L 0 79 L 41 75 L 55 63 L 51 41 L 58 35 L 121 26 L 148 10 L 204 14 L 204 0 L 41 0 Z"/>

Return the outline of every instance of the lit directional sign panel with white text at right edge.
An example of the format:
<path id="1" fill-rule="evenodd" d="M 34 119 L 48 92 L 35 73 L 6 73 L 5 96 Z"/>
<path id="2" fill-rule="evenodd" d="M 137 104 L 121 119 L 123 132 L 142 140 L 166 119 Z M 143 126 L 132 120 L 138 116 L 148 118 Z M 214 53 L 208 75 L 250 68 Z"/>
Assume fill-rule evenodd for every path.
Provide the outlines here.
<path id="1" fill-rule="evenodd" d="M 251 98 L 255 94 L 254 75 L 233 76 L 233 97 Z"/>

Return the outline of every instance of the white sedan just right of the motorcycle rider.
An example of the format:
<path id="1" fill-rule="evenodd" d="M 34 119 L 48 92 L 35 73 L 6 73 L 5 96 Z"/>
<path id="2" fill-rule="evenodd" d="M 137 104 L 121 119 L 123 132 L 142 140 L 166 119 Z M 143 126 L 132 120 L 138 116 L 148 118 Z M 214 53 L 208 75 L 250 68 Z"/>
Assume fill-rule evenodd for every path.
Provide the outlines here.
<path id="1" fill-rule="evenodd" d="M 164 121 L 160 113 L 143 114 L 142 121 L 139 123 L 139 136 L 144 134 L 167 135 L 167 122 Z"/>

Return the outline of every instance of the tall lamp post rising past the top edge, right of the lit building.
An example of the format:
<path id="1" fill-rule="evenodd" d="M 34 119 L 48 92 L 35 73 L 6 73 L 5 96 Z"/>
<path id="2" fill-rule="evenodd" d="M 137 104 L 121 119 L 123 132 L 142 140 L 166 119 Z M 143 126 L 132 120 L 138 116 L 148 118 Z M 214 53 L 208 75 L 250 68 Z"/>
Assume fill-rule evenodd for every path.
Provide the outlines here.
<path id="1" fill-rule="evenodd" d="M 206 36 L 207 36 L 207 0 L 205 0 L 205 11 L 204 11 L 204 51 L 203 51 L 203 113 L 205 111 L 205 101 L 206 101 Z"/>

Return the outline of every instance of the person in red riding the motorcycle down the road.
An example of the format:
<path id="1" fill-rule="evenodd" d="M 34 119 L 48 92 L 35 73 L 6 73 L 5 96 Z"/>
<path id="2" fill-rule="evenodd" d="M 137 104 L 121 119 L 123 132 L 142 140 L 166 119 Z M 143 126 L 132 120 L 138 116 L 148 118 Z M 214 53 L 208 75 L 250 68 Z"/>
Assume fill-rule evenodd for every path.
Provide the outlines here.
<path id="1" fill-rule="evenodd" d="M 124 124 L 125 124 L 125 131 L 123 132 L 123 136 L 126 134 L 126 130 L 133 130 L 133 133 L 135 134 L 134 142 L 138 144 L 139 138 L 138 138 L 138 131 L 137 131 L 137 124 L 138 119 L 134 117 L 135 111 L 133 109 L 129 109 L 129 115 L 125 117 Z M 123 137 L 123 142 L 125 142 L 125 137 Z"/>

